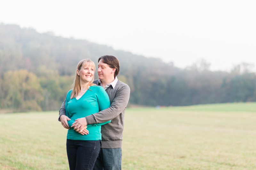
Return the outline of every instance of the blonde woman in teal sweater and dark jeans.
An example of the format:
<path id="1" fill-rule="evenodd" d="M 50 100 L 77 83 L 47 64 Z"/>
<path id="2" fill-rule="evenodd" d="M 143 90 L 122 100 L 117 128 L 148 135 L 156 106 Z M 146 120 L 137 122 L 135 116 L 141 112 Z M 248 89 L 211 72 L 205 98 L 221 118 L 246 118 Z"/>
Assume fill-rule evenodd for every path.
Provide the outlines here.
<path id="1" fill-rule="evenodd" d="M 109 97 L 101 86 L 92 83 L 95 64 L 90 59 L 81 60 L 77 65 L 74 88 L 66 97 L 66 116 L 70 129 L 67 135 L 67 154 L 70 170 L 93 169 L 100 152 L 101 125 L 89 124 L 89 134 L 81 135 L 71 125 L 77 118 L 91 115 L 110 106 Z"/>

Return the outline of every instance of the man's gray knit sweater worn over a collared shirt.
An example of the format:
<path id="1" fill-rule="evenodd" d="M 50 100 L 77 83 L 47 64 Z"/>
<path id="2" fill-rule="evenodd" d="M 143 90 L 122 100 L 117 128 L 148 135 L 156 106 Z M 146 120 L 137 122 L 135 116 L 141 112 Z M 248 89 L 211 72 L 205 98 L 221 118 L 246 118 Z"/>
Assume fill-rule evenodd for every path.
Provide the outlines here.
<path id="1" fill-rule="evenodd" d="M 98 80 L 93 81 L 98 85 Z M 130 97 L 130 88 L 122 81 L 117 81 L 115 88 L 109 86 L 106 89 L 110 100 L 110 107 L 92 115 L 86 116 L 87 124 L 110 123 L 101 126 L 102 145 L 101 148 L 121 148 L 124 131 L 124 112 Z M 61 115 L 66 115 L 64 101 L 60 108 Z M 90 132 L 89 132 L 90 133 Z"/>

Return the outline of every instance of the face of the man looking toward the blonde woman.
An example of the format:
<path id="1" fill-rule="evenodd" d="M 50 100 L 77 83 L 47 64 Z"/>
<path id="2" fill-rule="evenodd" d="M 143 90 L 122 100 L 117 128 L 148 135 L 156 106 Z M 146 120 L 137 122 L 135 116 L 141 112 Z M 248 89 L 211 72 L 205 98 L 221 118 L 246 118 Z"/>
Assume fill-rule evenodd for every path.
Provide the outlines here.
<path id="1" fill-rule="evenodd" d="M 114 71 L 115 72 L 115 71 Z M 113 68 L 110 68 L 108 64 L 103 63 L 102 60 L 98 63 L 98 75 L 101 81 L 108 81 L 108 79 L 112 79 L 113 75 Z"/>

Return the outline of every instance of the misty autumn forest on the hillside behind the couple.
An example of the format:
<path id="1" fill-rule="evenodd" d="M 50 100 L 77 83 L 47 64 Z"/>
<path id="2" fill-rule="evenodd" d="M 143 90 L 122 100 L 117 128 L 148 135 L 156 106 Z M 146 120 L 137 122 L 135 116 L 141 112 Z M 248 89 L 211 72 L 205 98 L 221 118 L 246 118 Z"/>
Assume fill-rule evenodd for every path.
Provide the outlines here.
<path id="1" fill-rule="evenodd" d="M 131 88 L 129 106 L 256 101 L 256 74 L 250 63 L 229 72 L 210 71 L 210 64 L 202 59 L 181 69 L 172 62 L 87 40 L 0 24 L 0 112 L 59 110 L 71 89 L 77 63 L 89 58 L 97 65 L 102 55 L 119 59 L 117 78 Z"/>

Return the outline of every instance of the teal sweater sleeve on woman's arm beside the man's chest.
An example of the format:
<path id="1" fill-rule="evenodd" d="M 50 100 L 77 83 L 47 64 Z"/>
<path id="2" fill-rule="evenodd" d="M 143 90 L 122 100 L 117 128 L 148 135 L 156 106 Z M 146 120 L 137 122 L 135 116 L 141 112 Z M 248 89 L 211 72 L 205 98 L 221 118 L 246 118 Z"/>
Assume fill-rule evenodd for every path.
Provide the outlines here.
<path id="1" fill-rule="evenodd" d="M 103 87 L 98 86 L 99 87 L 99 92 L 97 94 L 97 99 L 98 99 L 98 104 L 99 104 L 99 108 L 100 111 L 107 109 L 110 106 L 110 101 L 109 101 L 109 97 L 107 92 L 103 89 Z M 102 122 L 102 123 L 97 123 L 97 124 L 88 124 L 87 127 L 89 126 L 101 126 L 103 124 L 107 124 L 111 122 L 111 120 L 108 120 L 106 122 Z"/>

